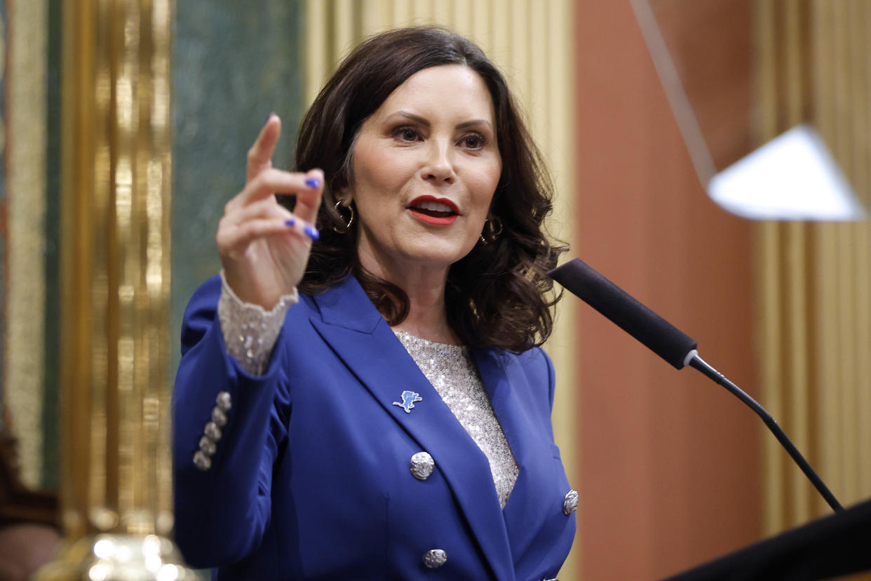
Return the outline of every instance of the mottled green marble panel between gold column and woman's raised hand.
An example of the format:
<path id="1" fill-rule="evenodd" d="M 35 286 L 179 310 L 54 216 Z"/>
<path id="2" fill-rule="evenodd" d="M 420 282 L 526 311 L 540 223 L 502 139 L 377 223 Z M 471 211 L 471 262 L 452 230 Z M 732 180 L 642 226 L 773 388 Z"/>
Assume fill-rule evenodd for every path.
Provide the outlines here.
<path id="1" fill-rule="evenodd" d="M 302 102 L 300 0 L 184 0 L 172 31 L 172 369 L 187 300 L 220 262 L 215 232 L 270 112 L 289 166 Z"/>

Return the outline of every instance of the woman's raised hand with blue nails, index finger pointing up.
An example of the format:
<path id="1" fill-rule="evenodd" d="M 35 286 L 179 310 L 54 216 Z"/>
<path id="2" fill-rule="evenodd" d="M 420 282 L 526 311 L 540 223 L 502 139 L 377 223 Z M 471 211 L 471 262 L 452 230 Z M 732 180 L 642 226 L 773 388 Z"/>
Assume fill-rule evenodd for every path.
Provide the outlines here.
<path id="1" fill-rule="evenodd" d="M 224 206 L 218 224 L 218 252 L 227 284 L 242 301 L 272 308 L 302 280 L 321 206 L 324 175 L 284 172 L 272 157 L 281 134 L 274 113 L 248 150 L 245 188 Z M 296 194 L 294 213 L 275 193 Z"/>

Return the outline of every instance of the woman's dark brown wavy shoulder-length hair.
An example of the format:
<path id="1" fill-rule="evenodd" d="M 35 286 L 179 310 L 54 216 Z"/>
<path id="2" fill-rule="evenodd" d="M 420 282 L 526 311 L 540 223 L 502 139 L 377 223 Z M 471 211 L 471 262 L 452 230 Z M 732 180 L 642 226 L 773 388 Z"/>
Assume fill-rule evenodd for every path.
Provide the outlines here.
<path id="1" fill-rule="evenodd" d="M 503 161 L 490 206 L 503 231 L 488 244 L 479 241 L 449 268 L 448 321 L 470 346 L 523 351 L 550 335 L 550 307 L 559 298 L 546 272 L 566 247 L 550 242 L 543 223 L 553 188 L 502 73 L 476 44 L 449 30 L 403 28 L 369 38 L 345 58 L 308 110 L 295 169 L 320 167 L 327 184 L 316 224 L 321 240 L 312 247 L 300 292 L 318 294 L 354 274 L 391 326 L 408 315 L 402 288 L 361 267 L 356 226 L 347 233 L 334 230 L 347 222 L 334 206 L 337 193 L 353 184 L 354 140 L 363 122 L 415 72 L 440 64 L 462 64 L 483 78 L 496 110 Z"/>

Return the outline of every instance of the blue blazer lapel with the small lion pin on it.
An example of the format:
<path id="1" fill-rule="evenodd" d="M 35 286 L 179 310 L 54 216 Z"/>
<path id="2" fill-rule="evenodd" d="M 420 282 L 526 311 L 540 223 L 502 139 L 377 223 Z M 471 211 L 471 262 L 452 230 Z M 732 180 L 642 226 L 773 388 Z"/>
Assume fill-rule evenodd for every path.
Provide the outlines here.
<path id="1" fill-rule="evenodd" d="M 381 407 L 429 452 L 496 578 L 514 579 L 508 533 L 486 456 L 427 381 L 354 277 L 315 295 L 312 323 Z M 419 395 L 406 412 L 402 392 Z"/>

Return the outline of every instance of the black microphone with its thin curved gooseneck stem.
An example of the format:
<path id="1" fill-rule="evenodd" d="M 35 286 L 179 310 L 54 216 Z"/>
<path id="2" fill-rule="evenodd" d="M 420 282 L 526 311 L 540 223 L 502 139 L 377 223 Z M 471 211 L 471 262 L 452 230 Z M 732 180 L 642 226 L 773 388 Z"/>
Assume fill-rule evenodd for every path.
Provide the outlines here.
<path id="1" fill-rule="evenodd" d="M 828 487 L 817 476 L 814 469 L 807 463 L 804 456 L 789 440 L 783 429 L 780 428 L 774 418 L 750 395 L 741 388 L 726 379 L 726 376 L 712 368 L 701 357 L 697 348 L 699 344 L 686 334 L 674 327 L 672 323 L 665 321 L 651 309 L 645 307 L 636 299 L 632 298 L 622 288 L 606 279 L 589 265 L 580 259 L 570 260 L 563 266 L 554 268 L 548 275 L 559 284 L 563 285 L 571 294 L 576 294 L 581 300 L 599 313 L 631 334 L 638 341 L 645 344 L 655 354 L 668 361 L 675 368 L 682 369 L 689 365 L 698 369 L 701 373 L 728 389 L 741 402 L 762 418 L 768 429 L 771 430 L 778 442 L 787 450 L 793 461 L 799 465 L 807 479 L 814 484 L 814 488 L 826 499 L 832 510 L 839 512 L 844 510 L 838 499 L 834 497 Z"/>

